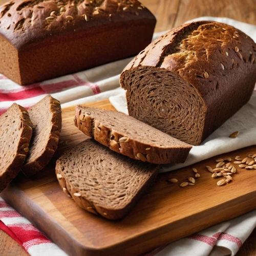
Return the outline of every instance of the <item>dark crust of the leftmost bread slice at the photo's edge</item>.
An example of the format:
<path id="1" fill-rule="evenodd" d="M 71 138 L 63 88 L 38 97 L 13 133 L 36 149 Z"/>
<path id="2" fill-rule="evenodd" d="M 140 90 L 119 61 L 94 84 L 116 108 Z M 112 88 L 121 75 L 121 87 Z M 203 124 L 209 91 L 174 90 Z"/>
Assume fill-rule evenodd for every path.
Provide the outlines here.
<path id="1" fill-rule="evenodd" d="M 13 105 L 17 104 L 13 103 Z M 29 118 L 28 111 L 23 108 L 23 106 L 17 106 L 19 109 L 19 113 L 17 113 L 17 116 L 13 118 L 19 118 L 19 120 L 22 121 L 22 133 L 19 136 L 20 139 L 18 143 L 18 150 L 16 152 L 13 162 L 7 167 L 6 170 L 2 171 L 3 175 L 0 176 L 0 192 L 7 187 L 11 180 L 14 179 L 20 171 L 20 168 L 22 167 L 27 155 L 27 152 L 24 151 L 24 148 L 28 147 L 32 136 L 32 123 Z M 3 115 L 5 115 L 5 113 Z"/>

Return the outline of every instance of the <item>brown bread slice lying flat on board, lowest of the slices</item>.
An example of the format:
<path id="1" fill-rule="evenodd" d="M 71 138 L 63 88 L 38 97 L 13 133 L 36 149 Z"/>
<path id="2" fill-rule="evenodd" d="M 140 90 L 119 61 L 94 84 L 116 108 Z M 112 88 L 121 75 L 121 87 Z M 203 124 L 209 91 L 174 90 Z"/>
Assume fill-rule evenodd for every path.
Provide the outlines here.
<path id="1" fill-rule="evenodd" d="M 56 162 L 63 191 L 83 209 L 106 219 L 123 218 L 152 184 L 159 166 L 117 154 L 88 139 Z"/>

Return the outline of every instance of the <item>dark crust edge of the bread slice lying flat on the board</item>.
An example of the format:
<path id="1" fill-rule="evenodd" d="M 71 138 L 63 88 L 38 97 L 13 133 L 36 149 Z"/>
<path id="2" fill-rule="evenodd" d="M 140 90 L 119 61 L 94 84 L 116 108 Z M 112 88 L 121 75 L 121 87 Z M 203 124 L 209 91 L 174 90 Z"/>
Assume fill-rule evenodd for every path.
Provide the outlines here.
<path id="1" fill-rule="evenodd" d="M 114 153 L 115 154 L 115 153 Z M 124 208 L 120 209 L 108 209 L 105 207 L 100 207 L 94 202 L 89 201 L 87 198 L 84 197 L 76 197 L 74 196 L 74 193 L 77 193 L 77 188 L 74 188 L 73 186 L 70 186 L 69 183 L 66 182 L 65 179 L 65 173 L 61 170 L 61 161 L 57 160 L 56 162 L 56 175 L 60 174 L 61 178 L 57 176 L 57 180 L 59 182 L 59 185 L 62 187 L 64 193 L 72 198 L 79 207 L 91 212 L 95 215 L 101 215 L 102 217 L 109 219 L 109 220 L 119 220 L 124 218 L 134 207 L 134 205 L 138 202 L 138 200 L 141 198 L 141 196 L 145 193 L 145 191 L 152 185 L 154 180 L 156 179 L 158 175 L 160 165 L 157 165 L 155 169 L 153 170 L 153 173 L 151 174 L 151 177 L 144 183 L 144 185 L 140 188 L 138 193 L 131 199 L 131 202 L 127 204 Z"/>

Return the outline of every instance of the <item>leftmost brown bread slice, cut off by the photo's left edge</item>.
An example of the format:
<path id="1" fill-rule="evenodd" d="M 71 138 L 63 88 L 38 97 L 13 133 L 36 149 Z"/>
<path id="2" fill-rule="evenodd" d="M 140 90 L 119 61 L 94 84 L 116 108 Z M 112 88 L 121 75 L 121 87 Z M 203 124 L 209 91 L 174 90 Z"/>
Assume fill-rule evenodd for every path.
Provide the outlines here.
<path id="1" fill-rule="evenodd" d="M 0 192 L 16 177 L 29 151 L 32 123 L 22 106 L 13 103 L 0 116 Z"/>

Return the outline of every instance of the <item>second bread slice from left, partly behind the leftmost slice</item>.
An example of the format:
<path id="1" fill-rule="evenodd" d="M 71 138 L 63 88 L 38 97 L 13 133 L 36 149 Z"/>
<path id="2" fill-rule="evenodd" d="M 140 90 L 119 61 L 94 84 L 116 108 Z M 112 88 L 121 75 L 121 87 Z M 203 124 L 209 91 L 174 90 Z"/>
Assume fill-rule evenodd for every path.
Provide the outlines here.
<path id="1" fill-rule="evenodd" d="M 47 95 L 28 112 L 33 123 L 33 136 L 22 171 L 30 177 L 44 168 L 57 150 L 61 130 L 61 107 L 58 100 Z"/>

